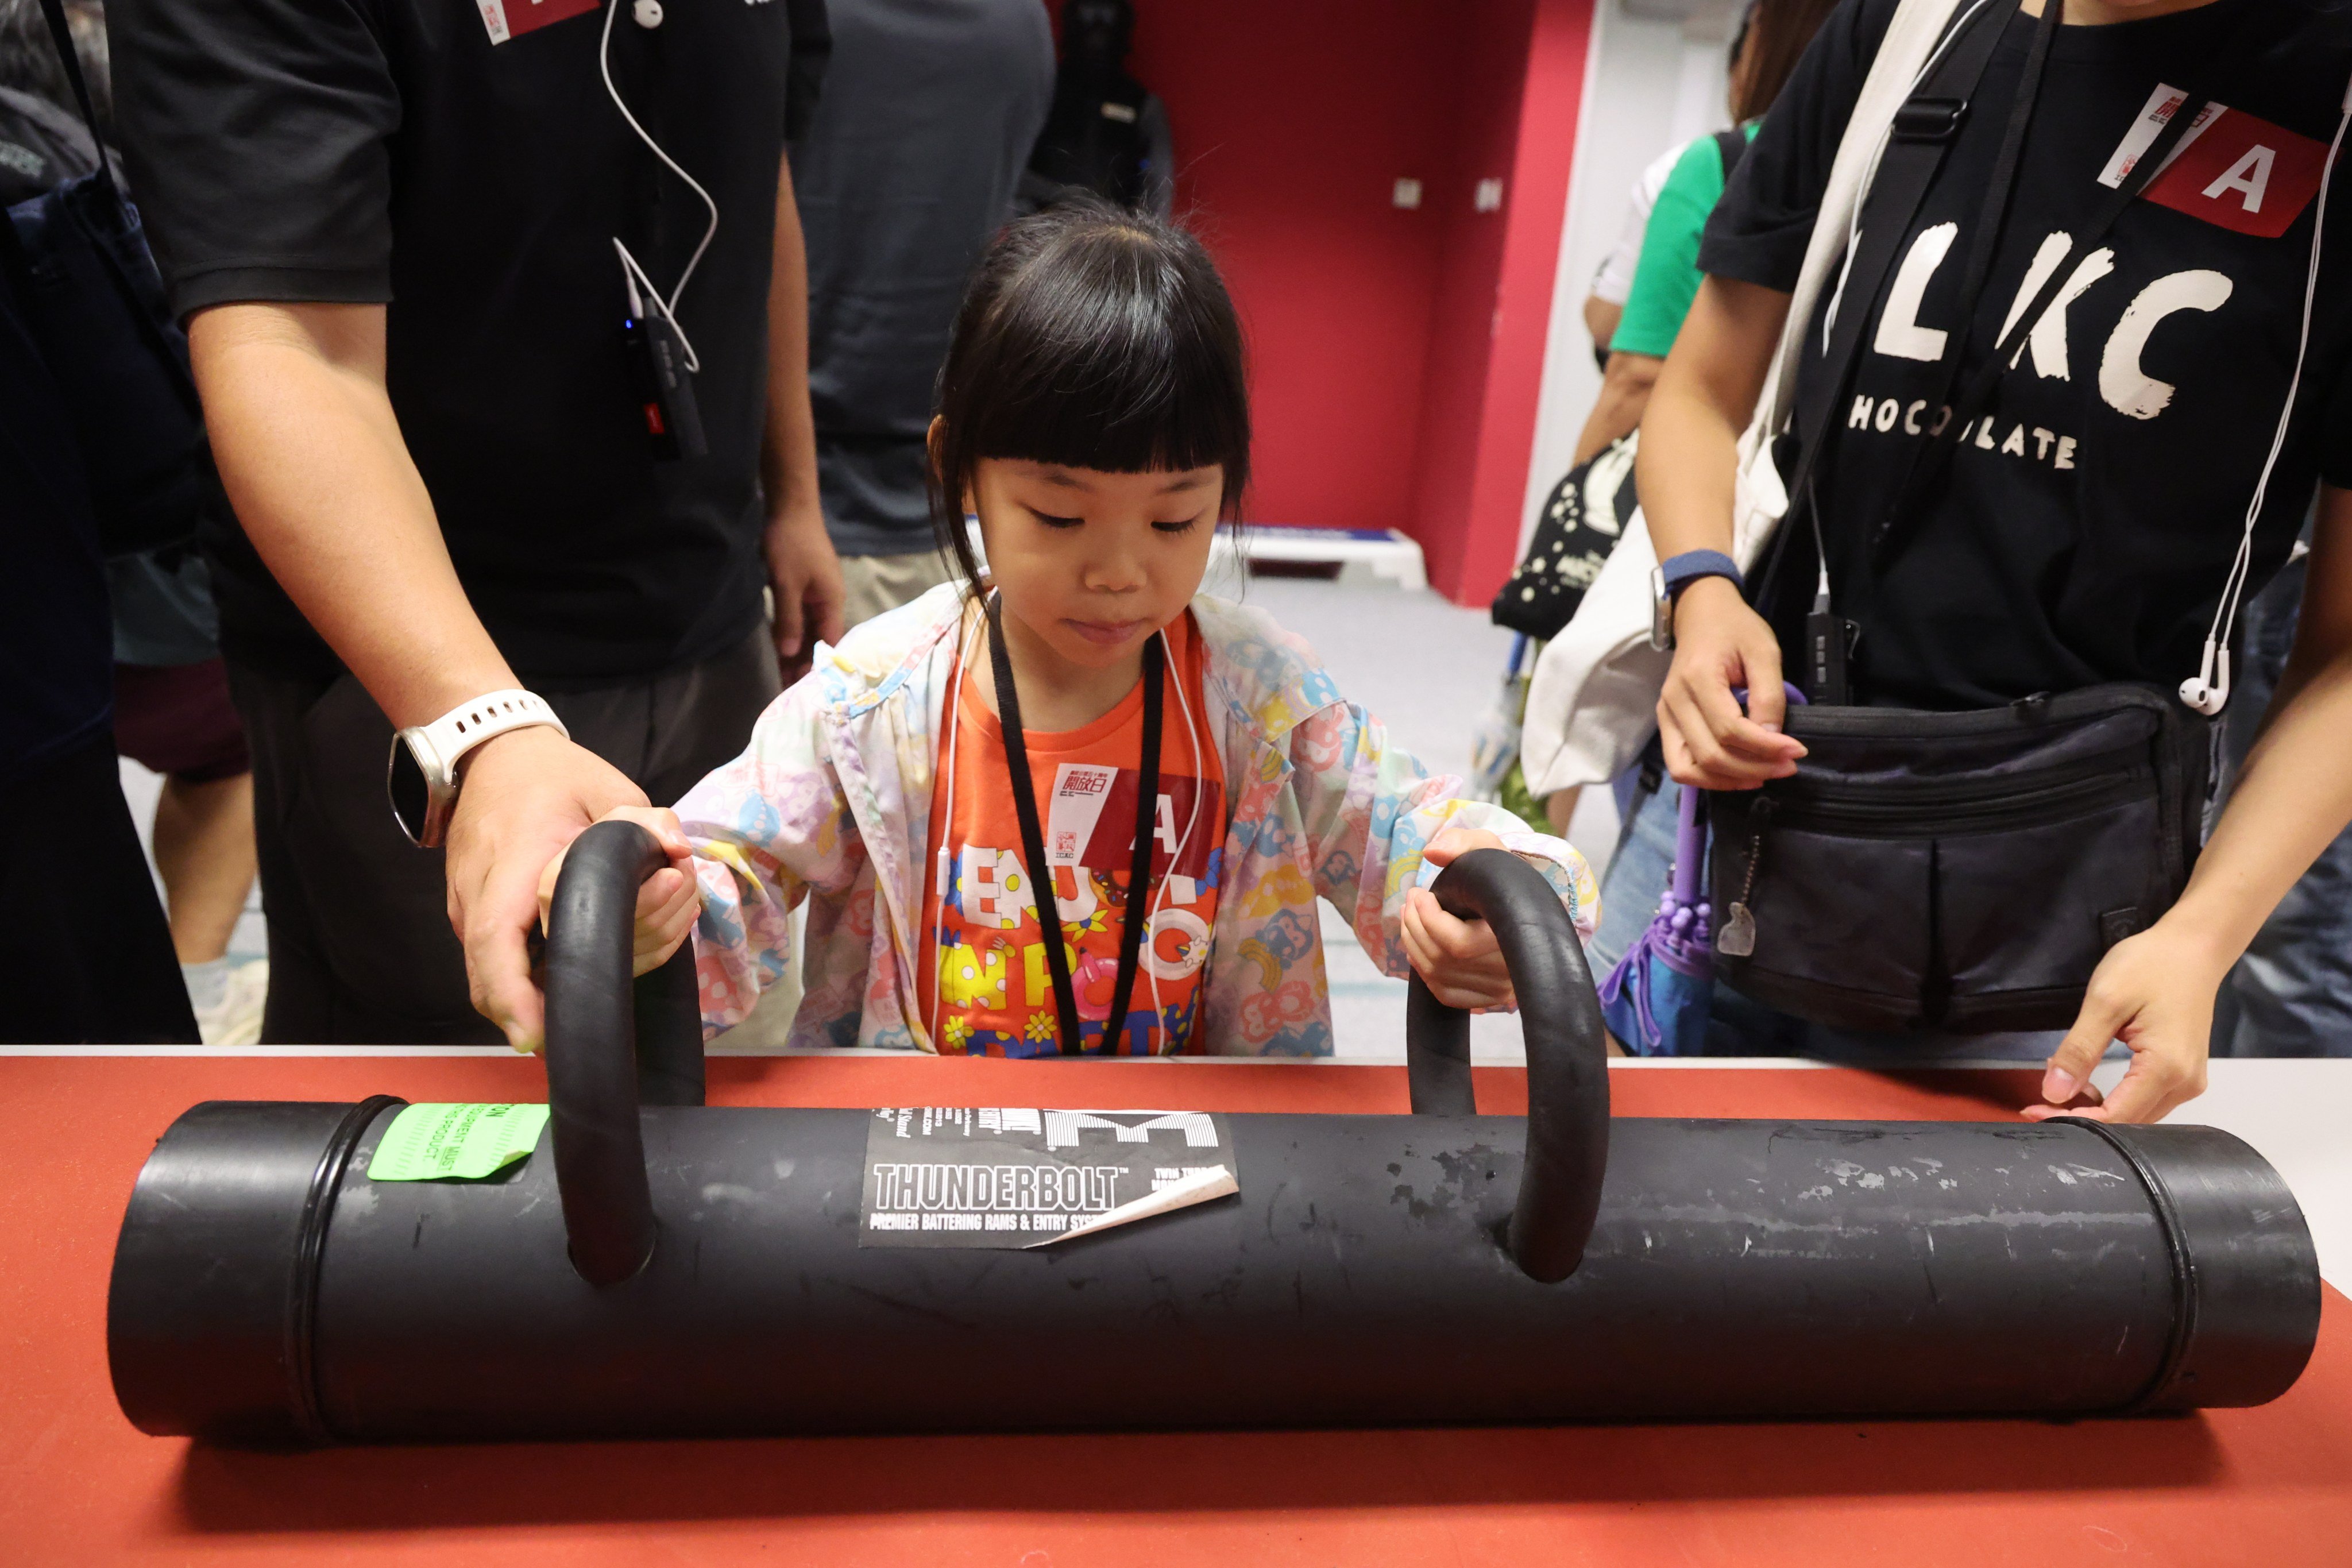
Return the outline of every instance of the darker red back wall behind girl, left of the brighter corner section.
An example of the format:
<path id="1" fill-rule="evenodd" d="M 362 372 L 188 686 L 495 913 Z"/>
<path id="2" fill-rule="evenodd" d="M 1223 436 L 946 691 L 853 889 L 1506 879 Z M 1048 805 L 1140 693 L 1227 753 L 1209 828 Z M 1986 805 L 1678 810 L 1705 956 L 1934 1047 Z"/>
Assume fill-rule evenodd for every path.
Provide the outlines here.
<path id="1" fill-rule="evenodd" d="M 1484 5 L 1484 0 L 1479 0 Z M 1261 522 L 1414 529 L 1454 75 L 1430 0 L 1138 0 L 1176 207 L 1249 334 Z M 1423 207 L 1390 205 L 1397 176 Z M 1468 190 L 1461 193 L 1468 205 Z"/>

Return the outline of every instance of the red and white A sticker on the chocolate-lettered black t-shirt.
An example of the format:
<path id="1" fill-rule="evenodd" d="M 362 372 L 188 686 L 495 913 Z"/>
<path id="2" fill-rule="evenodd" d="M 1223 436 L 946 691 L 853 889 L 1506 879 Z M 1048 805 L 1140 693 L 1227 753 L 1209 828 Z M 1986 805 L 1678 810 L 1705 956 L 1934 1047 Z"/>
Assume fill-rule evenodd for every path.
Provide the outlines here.
<path id="1" fill-rule="evenodd" d="M 2150 94 L 2124 146 L 2100 172 L 2103 186 L 2122 183 L 2185 99 L 2178 87 Z M 2237 108 L 2206 106 L 2143 195 L 2218 228 L 2277 240 L 2319 195 L 2326 160 L 2324 141 Z"/>

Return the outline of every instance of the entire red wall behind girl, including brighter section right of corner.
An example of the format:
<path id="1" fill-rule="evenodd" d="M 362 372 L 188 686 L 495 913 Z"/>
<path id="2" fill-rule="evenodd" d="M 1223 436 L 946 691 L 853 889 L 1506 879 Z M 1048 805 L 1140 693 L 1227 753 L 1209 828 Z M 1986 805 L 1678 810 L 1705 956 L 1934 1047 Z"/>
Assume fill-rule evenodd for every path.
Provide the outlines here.
<path id="1" fill-rule="evenodd" d="M 1058 7 L 1056 7 L 1058 9 Z M 1258 522 L 1510 571 L 1592 0 L 1138 0 L 1176 209 L 1249 334 Z M 1423 205 L 1399 209 L 1399 176 Z M 1503 212 L 1472 212 L 1479 179 Z"/>

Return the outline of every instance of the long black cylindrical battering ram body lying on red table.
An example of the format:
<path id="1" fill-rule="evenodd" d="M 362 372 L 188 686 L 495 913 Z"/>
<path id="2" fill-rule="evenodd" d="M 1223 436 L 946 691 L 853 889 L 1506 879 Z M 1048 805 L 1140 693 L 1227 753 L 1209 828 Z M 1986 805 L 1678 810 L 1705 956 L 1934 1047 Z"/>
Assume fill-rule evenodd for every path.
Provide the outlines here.
<path id="1" fill-rule="evenodd" d="M 2086 1415 L 2260 1403 L 2319 1326 L 2293 1199 L 2209 1128 L 1628 1119 L 1581 1267 L 1541 1284 L 1494 1239 L 1522 1178 L 1512 1117 L 1237 1114 L 1237 1199 L 1042 1251 L 920 1251 L 858 1246 L 868 1112 L 656 1107 L 663 1241 L 595 1288 L 543 1147 L 503 1182 L 369 1182 L 379 1114 L 318 1267 L 313 1429 L 289 1363 L 238 1349 L 259 1319 L 216 1333 L 202 1302 L 223 1234 L 252 1237 L 256 1279 L 294 1279 L 341 1114 L 214 1105 L 165 1135 L 111 1316 L 143 1429 Z"/>

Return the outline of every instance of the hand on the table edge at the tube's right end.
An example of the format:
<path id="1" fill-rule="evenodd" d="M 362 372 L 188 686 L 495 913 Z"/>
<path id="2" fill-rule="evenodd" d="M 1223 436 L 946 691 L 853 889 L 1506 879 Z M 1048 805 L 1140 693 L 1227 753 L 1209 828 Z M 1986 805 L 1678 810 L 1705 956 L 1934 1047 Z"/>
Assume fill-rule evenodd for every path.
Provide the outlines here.
<path id="1" fill-rule="evenodd" d="M 2169 931 L 2169 924 L 2159 919 L 2100 959 L 2082 1016 L 2042 1077 L 2049 1105 L 2027 1105 L 2027 1119 L 2157 1121 L 2204 1093 L 2213 992 L 2230 966 L 2216 961 L 2211 943 Z M 2091 1067 L 2107 1053 L 2110 1039 L 2131 1046 L 2131 1067 L 2100 1100 L 2091 1088 Z M 2067 1105 L 2077 1095 L 2089 1103 Z"/>

